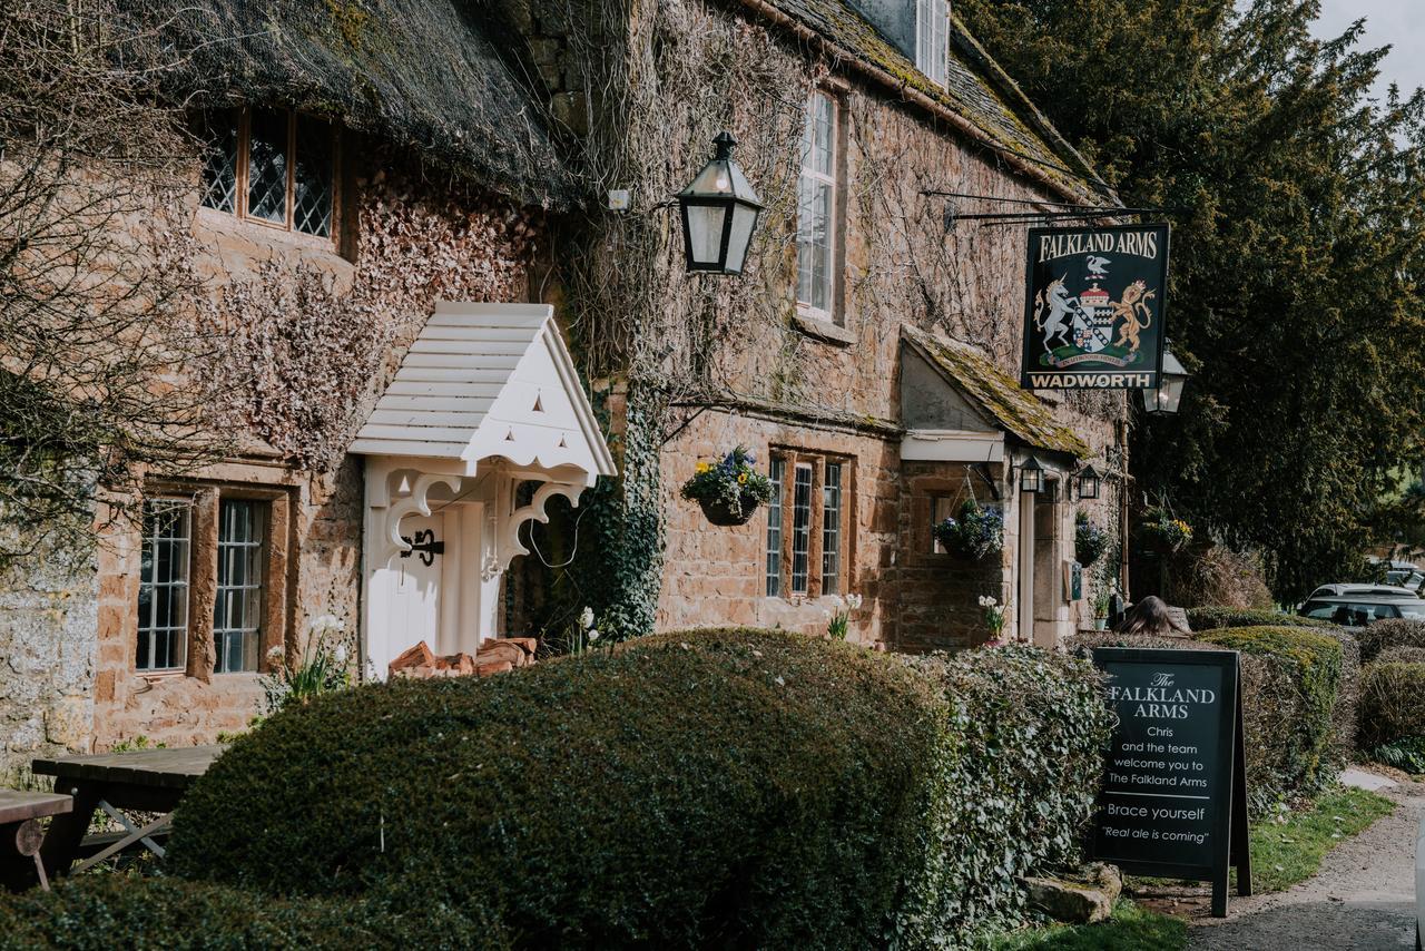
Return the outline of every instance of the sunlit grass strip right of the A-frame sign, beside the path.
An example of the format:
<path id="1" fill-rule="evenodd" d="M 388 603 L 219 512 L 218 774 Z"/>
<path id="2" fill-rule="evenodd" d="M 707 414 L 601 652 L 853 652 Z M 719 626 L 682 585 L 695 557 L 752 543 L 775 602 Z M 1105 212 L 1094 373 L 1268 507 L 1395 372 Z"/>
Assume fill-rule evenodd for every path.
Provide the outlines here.
<path id="1" fill-rule="evenodd" d="M 1395 811 L 1395 803 L 1367 790 L 1341 787 L 1327 793 L 1284 823 L 1251 827 L 1253 890 L 1282 891 L 1305 881 L 1321 868 L 1321 860 L 1375 820 Z"/>

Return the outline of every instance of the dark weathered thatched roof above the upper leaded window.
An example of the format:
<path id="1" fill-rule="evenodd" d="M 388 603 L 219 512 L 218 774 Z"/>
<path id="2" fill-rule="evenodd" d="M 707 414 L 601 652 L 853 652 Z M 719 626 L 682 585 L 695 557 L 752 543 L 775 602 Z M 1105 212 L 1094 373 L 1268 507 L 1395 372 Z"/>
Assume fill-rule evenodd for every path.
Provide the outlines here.
<path id="1" fill-rule="evenodd" d="M 195 106 L 299 108 L 419 150 L 520 202 L 560 207 L 573 177 L 543 110 L 462 0 L 118 0 Z"/>

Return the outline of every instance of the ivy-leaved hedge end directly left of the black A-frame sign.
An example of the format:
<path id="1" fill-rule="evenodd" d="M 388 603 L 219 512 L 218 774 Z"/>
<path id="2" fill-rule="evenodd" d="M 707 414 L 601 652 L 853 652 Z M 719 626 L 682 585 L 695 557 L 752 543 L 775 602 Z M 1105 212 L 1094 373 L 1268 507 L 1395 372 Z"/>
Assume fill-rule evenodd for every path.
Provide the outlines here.
<path id="1" fill-rule="evenodd" d="M 1020 875 L 1080 858 L 1113 724 L 1102 674 L 1026 646 L 906 663 L 942 684 L 963 737 L 950 776 L 955 808 L 939 831 L 946 884 L 935 921 L 962 934 L 1013 924 Z"/>

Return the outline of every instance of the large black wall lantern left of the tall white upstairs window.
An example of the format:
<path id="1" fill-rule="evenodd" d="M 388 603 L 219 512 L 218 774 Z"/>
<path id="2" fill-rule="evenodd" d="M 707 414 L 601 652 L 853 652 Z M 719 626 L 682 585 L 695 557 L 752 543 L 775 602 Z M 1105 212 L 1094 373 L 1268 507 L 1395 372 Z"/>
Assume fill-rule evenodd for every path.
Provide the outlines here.
<path id="1" fill-rule="evenodd" d="M 683 210 L 683 248 L 688 271 L 741 274 L 762 201 L 742 167 L 732 161 L 737 140 L 718 133 L 717 151 L 687 188 L 678 192 Z"/>

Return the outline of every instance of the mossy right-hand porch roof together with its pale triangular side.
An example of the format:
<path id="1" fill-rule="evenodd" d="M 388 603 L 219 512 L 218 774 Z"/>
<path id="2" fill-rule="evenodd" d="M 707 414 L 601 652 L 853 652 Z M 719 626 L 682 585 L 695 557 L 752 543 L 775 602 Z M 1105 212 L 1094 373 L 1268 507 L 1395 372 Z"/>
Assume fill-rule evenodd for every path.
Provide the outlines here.
<path id="1" fill-rule="evenodd" d="M 1009 433 L 1033 449 L 1084 459 L 1089 445 L 1054 419 L 1035 394 L 1022 388 L 988 356 L 965 344 L 939 341 L 929 334 L 901 328 L 902 418 L 908 436 L 959 432 L 969 435 L 983 425 Z M 909 355 L 911 359 L 905 359 Z M 926 372 L 916 372 L 912 361 Z M 926 382 L 926 381 L 933 382 Z M 945 394 L 945 389 L 949 394 Z M 916 392 L 911 392 L 915 389 Z M 942 392 L 926 392 L 940 389 Z M 946 399 L 946 395 L 949 399 Z M 963 411 L 969 412 L 963 412 Z M 978 422 L 979 426 L 966 425 Z"/>

